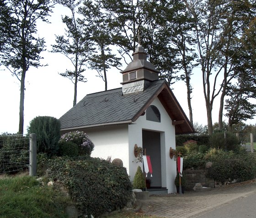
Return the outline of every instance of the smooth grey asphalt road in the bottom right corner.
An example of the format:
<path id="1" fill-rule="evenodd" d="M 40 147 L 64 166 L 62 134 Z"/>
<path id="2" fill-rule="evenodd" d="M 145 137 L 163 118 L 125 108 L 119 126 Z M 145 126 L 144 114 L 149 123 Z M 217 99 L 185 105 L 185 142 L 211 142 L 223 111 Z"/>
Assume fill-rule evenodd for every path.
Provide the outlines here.
<path id="1" fill-rule="evenodd" d="M 196 218 L 256 218 L 256 193 L 225 203 Z"/>

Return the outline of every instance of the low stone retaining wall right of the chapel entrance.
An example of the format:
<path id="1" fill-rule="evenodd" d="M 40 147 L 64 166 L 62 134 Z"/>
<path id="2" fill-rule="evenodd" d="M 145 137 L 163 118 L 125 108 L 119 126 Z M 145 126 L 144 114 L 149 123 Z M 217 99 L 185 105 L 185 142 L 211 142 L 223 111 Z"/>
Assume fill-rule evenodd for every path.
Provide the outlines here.
<path id="1" fill-rule="evenodd" d="M 204 187 L 214 188 L 214 180 L 207 178 L 205 170 L 183 170 L 186 177 L 185 190 L 192 190 L 196 183 L 201 183 Z"/>

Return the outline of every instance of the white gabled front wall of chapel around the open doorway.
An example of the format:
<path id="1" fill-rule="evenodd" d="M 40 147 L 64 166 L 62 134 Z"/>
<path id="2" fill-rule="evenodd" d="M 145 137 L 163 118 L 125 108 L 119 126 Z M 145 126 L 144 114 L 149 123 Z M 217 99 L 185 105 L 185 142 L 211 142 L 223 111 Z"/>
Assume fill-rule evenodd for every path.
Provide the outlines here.
<path id="1" fill-rule="evenodd" d="M 170 147 L 176 148 L 175 142 L 175 126 L 172 125 L 171 118 L 165 111 L 158 98 L 156 98 L 151 105 L 158 108 L 161 115 L 161 122 L 153 122 L 146 120 L 146 114 L 140 116 L 133 124 L 128 126 L 128 138 L 129 138 L 129 175 L 131 180 L 136 173 L 137 167 L 143 168 L 142 163 L 134 162 L 135 157 L 133 154 L 134 145 L 137 144 L 142 147 L 142 130 L 160 132 L 161 141 L 161 167 L 162 167 L 162 187 L 168 189 L 168 193 L 176 193 L 176 187 L 174 180 L 176 177 L 176 162 L 174 158 L 169 156 Z M 153 168 L 153 166 L 152 166 Z M 154 176 L 154 168 L 153 168 Z"/>

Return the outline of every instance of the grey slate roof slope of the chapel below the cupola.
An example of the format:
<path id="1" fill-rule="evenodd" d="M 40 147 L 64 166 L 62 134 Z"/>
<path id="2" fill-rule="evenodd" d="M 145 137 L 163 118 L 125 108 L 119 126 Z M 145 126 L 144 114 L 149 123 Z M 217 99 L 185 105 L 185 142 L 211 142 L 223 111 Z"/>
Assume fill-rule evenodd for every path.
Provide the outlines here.
<path id="1" fill-rule="evenodd" d="M 86 95 L 59 118 L 61 129 L 135 121 L 165 83 L 165 80 L 152 81 L 143 92 L 128 95 L 123 95 L 122 88 Z"/>

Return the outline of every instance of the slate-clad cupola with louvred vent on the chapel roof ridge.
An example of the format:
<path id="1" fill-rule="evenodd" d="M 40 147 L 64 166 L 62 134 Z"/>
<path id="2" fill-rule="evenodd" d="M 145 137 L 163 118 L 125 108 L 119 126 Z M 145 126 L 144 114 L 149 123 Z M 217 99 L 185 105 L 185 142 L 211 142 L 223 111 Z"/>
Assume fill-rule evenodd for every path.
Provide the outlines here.
<path id="1" fill-rule="evenodd" d="M 138 46 L 133 53 L 133 61 L 128 64 L 123 74 L 123 95 L 144 91 L 151 81 L 158 80 L 159 71 L 147 61 L 147 53 Z"/>

